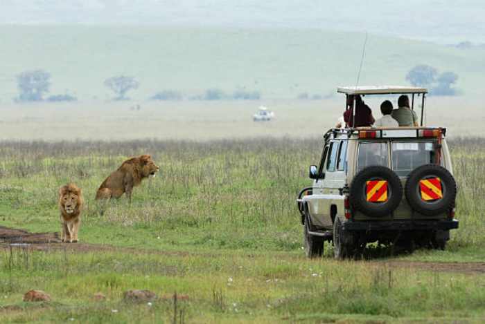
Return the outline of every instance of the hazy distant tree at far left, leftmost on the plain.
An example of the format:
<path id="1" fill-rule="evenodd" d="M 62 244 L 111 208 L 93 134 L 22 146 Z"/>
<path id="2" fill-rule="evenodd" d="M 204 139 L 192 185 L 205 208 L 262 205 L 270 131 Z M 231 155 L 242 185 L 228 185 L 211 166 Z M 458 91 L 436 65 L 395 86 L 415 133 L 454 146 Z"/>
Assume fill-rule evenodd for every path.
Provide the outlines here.
<path id="1" fill-rule="evenodd" d="M 21 102 L 38 102 L 48 93 L 51 86 L 51 75 L 44 70 L 29 70 L 17 75 L 19 88 L 18 100 Z"/>

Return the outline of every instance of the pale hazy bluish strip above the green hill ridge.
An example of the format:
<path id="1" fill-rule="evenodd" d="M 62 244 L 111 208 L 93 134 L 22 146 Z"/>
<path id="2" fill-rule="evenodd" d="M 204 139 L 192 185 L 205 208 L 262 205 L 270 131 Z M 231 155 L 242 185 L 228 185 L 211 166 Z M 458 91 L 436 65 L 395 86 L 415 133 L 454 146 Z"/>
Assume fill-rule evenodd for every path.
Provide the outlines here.
<path id="1" fill-rule="evenodd" d="M 1 23 L 150 23 L 368 31 L 485 43 L 484 0 L 0 0 Z"/>

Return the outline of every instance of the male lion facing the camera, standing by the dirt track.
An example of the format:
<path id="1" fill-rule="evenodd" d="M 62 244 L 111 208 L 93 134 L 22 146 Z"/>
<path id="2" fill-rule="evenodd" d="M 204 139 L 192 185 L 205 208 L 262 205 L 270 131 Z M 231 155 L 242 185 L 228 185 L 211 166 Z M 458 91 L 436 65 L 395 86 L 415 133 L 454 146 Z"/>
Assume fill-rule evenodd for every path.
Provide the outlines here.
<path id="1" fill-rule="evenodd" d="M 82 191 L 76 184 L 69 183 L 60 187 L 59 209 L 61 212 L 62 242 L 78 242 L 83 205 Z"/>

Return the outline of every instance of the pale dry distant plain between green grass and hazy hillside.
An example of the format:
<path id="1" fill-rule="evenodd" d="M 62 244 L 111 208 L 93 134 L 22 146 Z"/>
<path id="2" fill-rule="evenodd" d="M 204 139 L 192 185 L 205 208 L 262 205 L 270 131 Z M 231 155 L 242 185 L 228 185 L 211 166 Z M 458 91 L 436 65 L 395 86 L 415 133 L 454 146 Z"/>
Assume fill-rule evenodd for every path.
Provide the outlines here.
<path id="1" fill-rule="evenodd" d="M 383 98 L 367 103 L 380 117 Z M 140 110 L 132 110 L 139 105 Z M 260 105 L 276 113 L 253 122 Z M 76 102 L 1 104 L 0 140 L 196 140 L 247 137 L 319 137 L 335 125 L 344 95 L 326 100 Z M 419 110 L 418 110 L 419 111 Z M 429 97 L 427 125 L 448 135 L 485 135 L 485 106 L 467 97 Z"/>

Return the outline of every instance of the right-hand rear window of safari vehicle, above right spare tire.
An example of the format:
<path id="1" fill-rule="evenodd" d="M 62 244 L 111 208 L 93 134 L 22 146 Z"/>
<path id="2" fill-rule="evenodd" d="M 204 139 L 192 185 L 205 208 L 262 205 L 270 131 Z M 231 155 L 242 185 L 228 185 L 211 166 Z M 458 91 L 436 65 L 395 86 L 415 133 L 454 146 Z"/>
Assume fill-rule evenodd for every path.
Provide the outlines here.
<path id="1" fill-rule="evenodd" d="M 400 177 L 406 177 L 418 166 L 432 162 L 434 162 L 432 142 L 392 143 L 392 169 Z"/>

